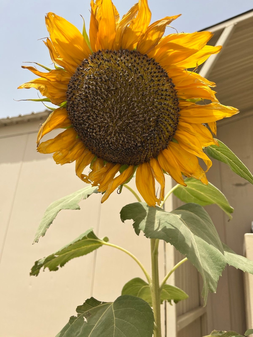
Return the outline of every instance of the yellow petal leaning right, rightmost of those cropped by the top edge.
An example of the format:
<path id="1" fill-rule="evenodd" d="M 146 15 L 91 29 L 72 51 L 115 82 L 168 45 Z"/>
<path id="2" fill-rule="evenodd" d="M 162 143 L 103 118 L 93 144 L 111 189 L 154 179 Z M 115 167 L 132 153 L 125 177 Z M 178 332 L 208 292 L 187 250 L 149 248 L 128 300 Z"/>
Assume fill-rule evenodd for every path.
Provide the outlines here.
<path id="1" fill-rule="evenodd" d="M 138 13 L 122 34 L 122 49 L 134 49 L 140 37 L 146 31 L 151 19 L 147 0 L 139 0 Z"/>

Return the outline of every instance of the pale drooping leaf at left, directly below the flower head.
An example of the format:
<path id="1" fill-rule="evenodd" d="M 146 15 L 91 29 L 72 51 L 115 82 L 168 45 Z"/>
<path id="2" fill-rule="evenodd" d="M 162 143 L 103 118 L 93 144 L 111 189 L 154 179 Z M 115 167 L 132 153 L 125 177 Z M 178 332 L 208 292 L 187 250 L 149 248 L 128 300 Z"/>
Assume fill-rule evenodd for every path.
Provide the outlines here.
<path id="1" fill-rule="evenodd" d="M 61 210 L 80 210 L 80 206 L 78 205 L 80 201 L 88 198 L 92 193 L 98 193 L 97 187 L 89 185 L 88 187 L 82 188 L 79 191 L 54 201 L 46 209 L 46 212 L 38 226 L 33 243 L 38 242 L 39 238 L 46 234 L 47 229 Z"/>

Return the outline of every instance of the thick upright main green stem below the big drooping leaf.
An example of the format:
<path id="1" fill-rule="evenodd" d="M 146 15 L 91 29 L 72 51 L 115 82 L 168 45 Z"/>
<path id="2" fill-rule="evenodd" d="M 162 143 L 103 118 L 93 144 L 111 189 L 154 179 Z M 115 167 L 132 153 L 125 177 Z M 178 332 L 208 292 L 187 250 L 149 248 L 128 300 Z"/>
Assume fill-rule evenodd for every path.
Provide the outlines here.
<path id="1" fill-rule="evenodd" d="M 159 286 L 159 271 L 158 271 L 158 239 L 150 239 L 151 244 L 151 269 L 152 269 L 152 283 L 150 286 L 152 307 L 154 312 L 154 337 L 162 337 L 161 331 L 161 300 L 160 300 L 160 286 Z"/>

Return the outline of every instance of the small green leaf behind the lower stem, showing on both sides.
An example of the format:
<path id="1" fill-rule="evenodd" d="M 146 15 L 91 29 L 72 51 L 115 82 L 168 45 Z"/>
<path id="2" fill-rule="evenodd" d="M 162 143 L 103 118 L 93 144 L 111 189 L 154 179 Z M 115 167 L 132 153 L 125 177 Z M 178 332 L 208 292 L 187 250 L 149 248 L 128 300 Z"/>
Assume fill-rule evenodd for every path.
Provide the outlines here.
<path id="1" fill-rule="evenodd" d="M 152 298 L 149 284 L 139 277 L 133 278 L 127 282 L 122 289 L 121 295 L 133 295 L 142 298 L 152 306 Z M 187 299 L 189 296 L 180 288 L 173 285 L 164 284 L 161 291 L 161 303 L 168 301 L 175 303 Z"/>

